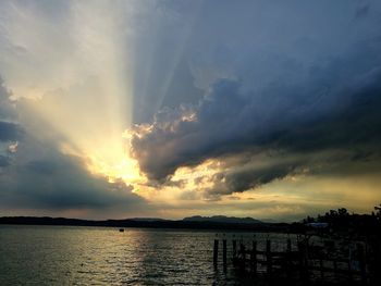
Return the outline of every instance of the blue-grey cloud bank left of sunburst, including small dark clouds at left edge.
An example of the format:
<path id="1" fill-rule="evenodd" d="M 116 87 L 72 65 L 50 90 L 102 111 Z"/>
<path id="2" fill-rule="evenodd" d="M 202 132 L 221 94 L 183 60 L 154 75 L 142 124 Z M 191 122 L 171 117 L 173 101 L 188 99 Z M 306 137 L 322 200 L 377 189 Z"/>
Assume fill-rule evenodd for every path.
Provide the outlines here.
<path id="1" fill-rule="evenodd" d="M 3 211 L 108 210 L 127 214 L 145 204 L 123 182 L 108 183 L 106 177 L 90 174 L 83 158 L 62 153 L 59 135 L 46 136 L 51 134 L 49 125 L 37 121 L 42 125 L 34 126 L 35 115 L 21 108 L 23 101 L 11 101 L 10 96 L 2 84 L 0 208 Z M 21 110 L 24 122 L 17 121 Z"/>

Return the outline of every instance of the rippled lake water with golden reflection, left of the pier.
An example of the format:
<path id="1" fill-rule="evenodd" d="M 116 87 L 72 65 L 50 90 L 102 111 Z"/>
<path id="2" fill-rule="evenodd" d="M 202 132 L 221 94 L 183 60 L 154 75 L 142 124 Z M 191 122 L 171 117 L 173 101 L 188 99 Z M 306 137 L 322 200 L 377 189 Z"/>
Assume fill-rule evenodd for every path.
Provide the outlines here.
<path id="1" fill-rule="evenodd" d="M 239 285 L 212 264 L 222 232 L 0 225 L 0 285 Z M 247 243 L 253 233 L 234 234 Z M 233 233 L 226 233 L 231 238 Z M 256 234 L 259 247 L 269 235 Z M 271 234 L 274 248 L 284 236 Z M 276 240 L 280 243 L 276 244 Z"/>

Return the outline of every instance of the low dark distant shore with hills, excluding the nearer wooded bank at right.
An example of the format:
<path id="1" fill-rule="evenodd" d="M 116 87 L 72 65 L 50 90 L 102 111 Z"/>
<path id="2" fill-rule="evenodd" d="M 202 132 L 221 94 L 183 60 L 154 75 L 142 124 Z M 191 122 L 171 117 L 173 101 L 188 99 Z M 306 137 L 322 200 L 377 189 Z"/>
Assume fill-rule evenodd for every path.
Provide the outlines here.
<path id="1" fill-rule="evenodd" d="M 193 219 L 196 217 L 196 219 Z M 287 232 L 290 225 L 285 223 L 262 223 L 245 217 L 212 216 L 185 217 L 180 221 L 162 219 L 126 219 L 90 221 L 65 217 L 35 217 L 35 216 L 3 216 L 0 224 L 25 224 L 25 225 L 73 225 L 73 226 L 110 226 L 110 227 L 151 227 L 151 228 L 192 228 L 192 229 L 231 229 L 231 231 L 263 231 Z M 217 219 L 216 219 L 217 217 Z M 226 220 L 224 220 L 225 217 Z"/>

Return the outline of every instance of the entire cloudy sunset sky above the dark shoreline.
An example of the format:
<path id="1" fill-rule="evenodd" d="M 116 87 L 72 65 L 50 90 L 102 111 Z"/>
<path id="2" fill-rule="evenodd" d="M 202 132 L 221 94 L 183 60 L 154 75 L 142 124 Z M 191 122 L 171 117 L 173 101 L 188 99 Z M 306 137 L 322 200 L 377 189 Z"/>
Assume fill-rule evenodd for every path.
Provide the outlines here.
<path id="1" fill-rule="evenodd" d="M 0 215 L 370 213 L 380 27 L 378 0 L 0 1 Z"/>

